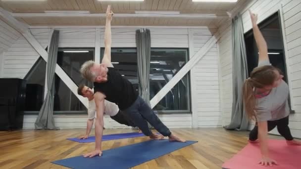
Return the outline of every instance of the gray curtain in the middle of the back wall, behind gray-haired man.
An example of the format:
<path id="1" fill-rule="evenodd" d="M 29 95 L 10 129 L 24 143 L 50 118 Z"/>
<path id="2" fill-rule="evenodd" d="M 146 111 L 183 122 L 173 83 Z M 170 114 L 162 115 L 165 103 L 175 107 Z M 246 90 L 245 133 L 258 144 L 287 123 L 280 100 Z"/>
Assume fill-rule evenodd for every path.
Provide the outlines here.
<path id="1" fill-rule="evenodd" d="M 150 105 L 151 32 L 136 30 L 137 62 L 140 96 Z"/>

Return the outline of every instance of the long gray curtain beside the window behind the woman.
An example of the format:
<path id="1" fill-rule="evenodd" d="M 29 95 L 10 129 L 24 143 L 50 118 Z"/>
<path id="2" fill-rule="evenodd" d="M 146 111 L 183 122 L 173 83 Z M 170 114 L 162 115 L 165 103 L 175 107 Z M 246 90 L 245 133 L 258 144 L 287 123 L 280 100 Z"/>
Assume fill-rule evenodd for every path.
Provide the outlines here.
<path id="1" fill-rule="evenodd" d="M 248 77 L 247 54 L 242 15 L 232 19 L 233 103 L 231 123 L 226 129 L 248 130 L 249 121 L 243 104 L 243 84 Z"/>

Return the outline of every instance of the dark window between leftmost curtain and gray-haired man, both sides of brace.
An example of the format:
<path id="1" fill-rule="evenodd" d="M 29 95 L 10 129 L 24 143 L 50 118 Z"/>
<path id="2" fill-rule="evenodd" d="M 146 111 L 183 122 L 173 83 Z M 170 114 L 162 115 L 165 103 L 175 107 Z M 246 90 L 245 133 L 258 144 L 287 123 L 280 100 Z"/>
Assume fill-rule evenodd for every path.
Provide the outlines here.
<path id="1" fill-rule="evenodd" d="M 93 87 L 80 73 L 81 65 L 87 60 L 94 60 L 94 48 L 59 48 L 57 64 L 65 71 L 72 81 Z M 87 111 L 66 84 L 55 74 L 54 111 Z"/>

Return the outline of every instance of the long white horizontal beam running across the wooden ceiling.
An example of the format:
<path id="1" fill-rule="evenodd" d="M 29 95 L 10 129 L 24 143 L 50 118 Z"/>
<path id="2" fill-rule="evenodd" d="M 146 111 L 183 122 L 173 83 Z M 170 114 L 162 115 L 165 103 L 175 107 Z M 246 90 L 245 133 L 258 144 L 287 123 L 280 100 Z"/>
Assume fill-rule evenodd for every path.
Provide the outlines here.
<path id="1" fill-rule="evenodd" d="M 50 12 L 50 13 L 12 13 L 14 17 L 102 17 L 105 13 L 71 13 L 71 12 Z M 216 14 L 162 14 L 162 13 L 114 13 L 114 17 L 160 17 L 160 18 L 198 18 L 198 19 L 220 19 L 229 17 Z"/>

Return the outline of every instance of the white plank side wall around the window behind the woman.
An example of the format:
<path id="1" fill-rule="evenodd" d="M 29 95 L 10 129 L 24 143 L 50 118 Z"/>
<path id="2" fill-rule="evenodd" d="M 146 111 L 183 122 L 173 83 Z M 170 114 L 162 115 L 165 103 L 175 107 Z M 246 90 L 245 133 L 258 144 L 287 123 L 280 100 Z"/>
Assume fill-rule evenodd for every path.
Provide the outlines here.
<path id="1" fill-rule="evenodd" d="M 254 13 L 258 13 L 258 22 L 264 20 L 271 14 L 275 13 L 280 4 L 283 5 L 282 11 L 284 25 L 282 28 L 285 33 L 287 47 L 286 59 L 287 69 L 289 71 L 289 84 L 291 87 L 293 109 L 296 114 L 290 116 L 290 128 L 293 136 L 301 137 L 301 1 L 300 0 L 252 0 L 248 6 L 243 8 L 243 23 L 244 31 L 251 29 L 250 16 L 247 9 L 251 9 Z M 229 89 L 232 89 L 232 53 L 231 53 L 231 28 L 225 29 L 229 22 L 223 24 L 219 31 L 224 33 L 222 39 L 225 41 L 219 42 L 221 72 L 222 72 L 222 114 L 223 125 L 227 125 L 231 118 L 232 92 L 229 94 Z M 228 39 L 228 40 L 227 40 Z M 229 70 L 229 71 L 228 71 Z M 271 133 L 278 134 L 277 129 Z"/>

